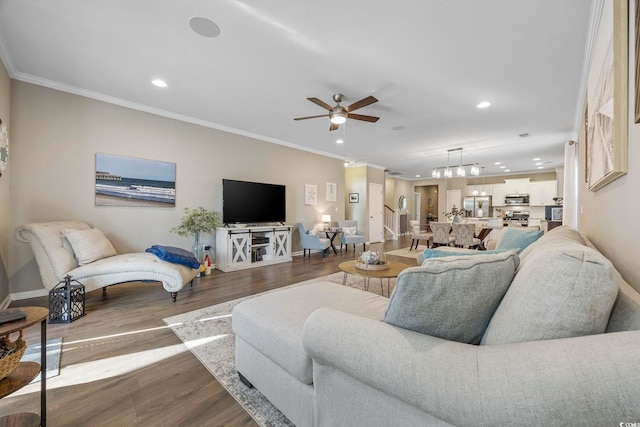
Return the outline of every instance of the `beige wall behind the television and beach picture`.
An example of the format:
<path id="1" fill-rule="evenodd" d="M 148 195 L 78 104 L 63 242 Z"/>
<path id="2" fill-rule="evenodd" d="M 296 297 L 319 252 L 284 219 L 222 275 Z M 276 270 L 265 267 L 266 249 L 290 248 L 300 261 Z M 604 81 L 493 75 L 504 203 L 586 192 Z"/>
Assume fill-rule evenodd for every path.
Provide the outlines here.
<path id="1" fill-rule="evenodd" d="M 3 101 L 6 97 L 2 96 Z M 0 104 L 1 106 L 4 104 Z M 13 238 L 25 223 L 77 219 L 102 229 L 121 253 L 153 244 L 189 249 L 190 238 L 169 232 L 183 208 L 222 210 L 222 179 L 284 184 L 287 222 L 308 228 L 323 213 L 344 217 L 341 160 L 13 81 L 10 219 L 3 218 L 11 293 L 42 289 L 29 245 Z M 176 207 L 95 206 L 95 155 L 110 153 L 176 163 Z M 336 202 L 326 183 L 338 184 Z M 304 204 L 304 185 L 318 187 L 318 204 Z M 3 203 L 4 205 L 4 203 Z M 6 206 L 6 205 L 5 205 Z M 213 244 L 213 236 L 203 236 Z M 300 250 L 294 232 L 293 250 Z M 0 279 L 1 280 L 1 279 Z"/>

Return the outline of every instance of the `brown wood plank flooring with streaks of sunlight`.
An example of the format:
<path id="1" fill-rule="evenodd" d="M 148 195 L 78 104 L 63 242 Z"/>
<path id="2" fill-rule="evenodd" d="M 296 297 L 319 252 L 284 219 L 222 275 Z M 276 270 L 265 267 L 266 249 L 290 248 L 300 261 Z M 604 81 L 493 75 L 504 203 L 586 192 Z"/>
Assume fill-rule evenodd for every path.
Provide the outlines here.
<path id="1" fill-rule="evenodd" d="M 390 251 L 410 241 L 405 236 L 367 249 Z M 47 326 L 49 338 L 63 338 L 61 374 L 47 382 L 49 426 L 255 426 L 162 319 L 335 273 L 340 262 L 354 257 L 351 247 L 324 259 L 314 252 L 290 263 L 214 270 L 181 290 L 175 303 L 157 283 L 112 286 L 106 297 L 101 290 L 87 293 L 85 317 Z M 48 299 L 11 304 L 20 306 L 47 307 Z M 27 343 L 39 343 L 39 333 L 39 325 L 29 328 Z M 33 384 L 0 400 L 0 416 L 38 413 L 39 389 Z"/>

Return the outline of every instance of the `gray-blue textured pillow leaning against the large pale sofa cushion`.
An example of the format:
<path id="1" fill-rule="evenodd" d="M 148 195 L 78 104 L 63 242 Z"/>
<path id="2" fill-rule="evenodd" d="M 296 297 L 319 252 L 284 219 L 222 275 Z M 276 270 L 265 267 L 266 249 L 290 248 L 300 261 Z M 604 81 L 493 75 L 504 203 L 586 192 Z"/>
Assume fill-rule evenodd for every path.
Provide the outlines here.
<path id="1" fill-rule="evenodd" d="M 429 259 L 400 273 L 383 320 L 423 334 L 478 344 L 518 263 L 515 251 Z"/>

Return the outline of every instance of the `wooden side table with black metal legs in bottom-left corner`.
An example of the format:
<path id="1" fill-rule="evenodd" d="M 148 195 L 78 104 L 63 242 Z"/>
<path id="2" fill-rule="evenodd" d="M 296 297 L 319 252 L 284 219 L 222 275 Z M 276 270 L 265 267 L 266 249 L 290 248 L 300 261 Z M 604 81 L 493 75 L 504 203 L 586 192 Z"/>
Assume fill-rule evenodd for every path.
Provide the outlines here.
<path id="1" fill-rule="evenodd" d="M 47 318 L 49 310 L 43 307 L 20 307 L 27 315 L 22 320 L 0 325 L 0 335 L 21 331 L 40 322 L 40 363 L 20 362 L 18 367 L 0 381 L 0 399 L 29 384 L 40 372 L 40 417 L 31 413 L 7 415 L 0 418 L 0 426 L 47 425 Z"/>

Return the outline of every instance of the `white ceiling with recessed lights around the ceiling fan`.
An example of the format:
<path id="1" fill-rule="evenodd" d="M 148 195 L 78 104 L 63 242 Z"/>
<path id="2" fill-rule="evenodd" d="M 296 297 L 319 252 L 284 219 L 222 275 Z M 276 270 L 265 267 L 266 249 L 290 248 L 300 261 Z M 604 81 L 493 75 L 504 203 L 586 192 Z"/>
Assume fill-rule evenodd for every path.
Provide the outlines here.
<path id="1" fill-rule="evenodd" d="M 597 1 L 597 0 L 596 0 Z M 0 0 L 0 57 L 19 80 L 367 163 L 415 179 L 563 163 L 584 91 L 592 0 Z M 192 17 L 216 22 L 202 37 Z M 151 85 L 154 78 L 168 87 Z M 329 132 L 306 100 L 369 95 Z M 480 101 L 492 106 L 480 110 Z M 520 134 L 528 133 L 526 138 Z M 459 162 L 459 153 L 451 162 Z"/>

